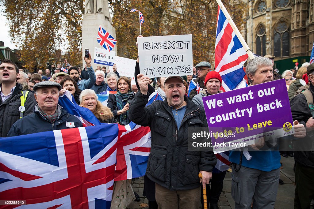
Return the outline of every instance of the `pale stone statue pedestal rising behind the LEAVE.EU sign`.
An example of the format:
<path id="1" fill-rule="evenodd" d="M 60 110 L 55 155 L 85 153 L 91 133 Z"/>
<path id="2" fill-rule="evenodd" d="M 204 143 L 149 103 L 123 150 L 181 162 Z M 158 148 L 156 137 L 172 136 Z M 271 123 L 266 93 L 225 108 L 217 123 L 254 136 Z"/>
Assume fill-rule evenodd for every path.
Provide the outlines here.
<path id="1" fill-rule="evenodd" d="M 103 27 L 113 38 L 116 39 L 116 29 L 112 26 L 112 20 L 109 13 L 107 0 L 85 0 L 85 11 L 82 23 L 82 60 L 84 61 L 84 49 L 89 49 L 92 56 L 92 63 L 94 70 L 97 65 L 94 63 L 94 49 L 95 47 L 104 49 L 97 42 L 97 33 L 99 25 Z M 116 46 L 113 48 L 116 51 Z M 102 66 L 102 65 L 100 65 Z"/>

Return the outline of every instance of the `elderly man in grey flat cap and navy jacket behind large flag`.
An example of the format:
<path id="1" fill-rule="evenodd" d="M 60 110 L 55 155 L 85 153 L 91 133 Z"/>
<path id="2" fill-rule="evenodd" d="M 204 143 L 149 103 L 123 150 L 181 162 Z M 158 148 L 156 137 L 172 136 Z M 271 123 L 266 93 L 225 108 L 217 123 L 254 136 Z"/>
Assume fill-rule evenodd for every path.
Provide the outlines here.
<path id="1" fill-rule="evenodd" d="M 58 105 L 60 84 L 42 81 L 34 86 L 38 104 L 33 114 L 16 121 L 9 130 L 8 137 L 51 130 L 82 127 L 75 116 Z"/>

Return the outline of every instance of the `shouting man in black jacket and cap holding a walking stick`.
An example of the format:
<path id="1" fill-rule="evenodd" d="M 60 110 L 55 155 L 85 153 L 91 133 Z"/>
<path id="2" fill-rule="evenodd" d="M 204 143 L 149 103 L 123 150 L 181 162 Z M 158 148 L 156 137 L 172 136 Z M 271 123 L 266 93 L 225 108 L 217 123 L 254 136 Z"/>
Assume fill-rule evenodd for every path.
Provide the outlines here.
<path id="1" fill-rule="evenodd" d="M 156 201 L 163 208 L 198 208 L 201 184 L 208 184 L 217 163 L 212 151 L 188 151 L 188 128 L 207 127 L 205 111 L 185 94 L 180 76 L 165 79 L 165 101 L 148 102 L 150 80 L 139 74 L 140 91 L 130 103 L 129 117 L 137 124 L 149 126 L 151 150 L 147 177 L 156 183 Z M 198 178 L 202 173 L 203 179 Z"/>

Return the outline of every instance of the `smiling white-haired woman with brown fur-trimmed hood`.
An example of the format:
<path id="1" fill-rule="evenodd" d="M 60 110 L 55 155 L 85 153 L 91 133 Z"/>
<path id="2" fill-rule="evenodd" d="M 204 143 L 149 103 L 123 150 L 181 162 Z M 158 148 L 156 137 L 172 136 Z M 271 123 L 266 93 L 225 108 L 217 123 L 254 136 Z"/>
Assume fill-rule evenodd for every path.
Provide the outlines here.
<path id="1" fill-rule="evenodd" d="M 98 101 L 95 91 L 91 89 L 83 90 L 79 96 L 79 100 L 80 106 L 92 111 L 100 123 L 116 123 L 111 109 Z"/>

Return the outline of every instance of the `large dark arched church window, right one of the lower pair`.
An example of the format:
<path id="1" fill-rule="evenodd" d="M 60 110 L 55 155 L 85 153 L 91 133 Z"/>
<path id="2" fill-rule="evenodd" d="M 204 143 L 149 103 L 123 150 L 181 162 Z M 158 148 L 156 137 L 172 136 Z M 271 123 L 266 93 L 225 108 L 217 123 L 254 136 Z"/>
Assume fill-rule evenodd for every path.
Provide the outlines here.
<path id="1" fill-rule="evenodd" d="M 274 29 L 274 56 L 284 57 L 290 55 L 290 32 L 286 22 L 280 21 Z"/>

